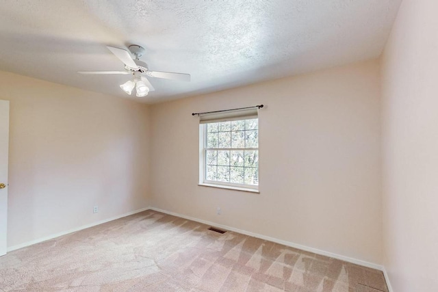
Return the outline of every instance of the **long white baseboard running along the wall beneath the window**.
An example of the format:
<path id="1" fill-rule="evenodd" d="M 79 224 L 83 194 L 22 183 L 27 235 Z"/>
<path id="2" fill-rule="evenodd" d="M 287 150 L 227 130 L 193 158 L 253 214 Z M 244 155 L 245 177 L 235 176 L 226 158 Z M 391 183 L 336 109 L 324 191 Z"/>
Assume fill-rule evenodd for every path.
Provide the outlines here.
<path id="1" fill-rule="evenodd" d="M 377 265 L 375 263 L 369 263 L 367 261 L 361 261 L 361 260 L 358 260 L 356 258 L 350 258 L 348 256 L 342 256 L 340 254 L 333 254 L 333 252 L 326 252 L 324 250 L 318 250 L 316 248 L 310 248 L 309 246 L 300 245 L 298 243 L 293 243 L 293 242 L 285 241 L 285 240 L 282 240 L 282 239 L 276 239 L 274 237 L 268 237 L 268 236 L 265 236 L 265 235 L 259 235 L 257 233 L 251 233 L 251 232 L 246 231 L 246 230 L 242 230 L 242 229 L 238 229 L 238 228 L 233 228 L 233 227 L 230 227 L 230 226 L 225 226 L 225 225 L 217 224 L 217 223 L 214 223 L 214 222 L 209 222 L 209 221 L 206 221 L 206 220 L 201 220 L 201 219 L 198 219 L 198 218 L 182 215 L 182 214 L 179 214 L 179 213 L 174 213 L 174 212 L 158 209 L 158 208 L 155 208 L 155 207 L 151 207 L 149 209 L 157 211 L 157 212 L 166 213 L 168 215 L 173 215 L 173 216 L 181 217 L 181 218 L 184 218 L 184 219 L 187 219 L 187 220 L 192 220 L 192 221 L 199 222 L 199 223 L 202 223 L 202 224 L 211 225 L 211 226 L 215 226 L 215 227 L 218 227 L 218 228 L 230 230 L 230 231 L 233 231 L 235 233 L 242 233 L 244 235 L 248 235 L 248 236 L 251 236 L 251 237 L 257 237 L 259 239 L 264 239 L 264 240 L 272 241 L 272 242 L 275 242 L 275 243 L 283 244 L 283 245 L 286 245 L 286 246 L 290 246 L 291 248 L 298 248 L 298 250 L 305 250 L 307 252 L 313 252 L 314 254 L 320 254 L 322 256 L 329 256 L 331 258 L 337 258 L 338 260 L 346 261 L 348 263 L 354 263 L 356 265 L 361 265 L 363 267 L 370 267 L 372 269 L 378 269 L 379 271 L 384 271 L 385 270 L 382 265 Z"/>

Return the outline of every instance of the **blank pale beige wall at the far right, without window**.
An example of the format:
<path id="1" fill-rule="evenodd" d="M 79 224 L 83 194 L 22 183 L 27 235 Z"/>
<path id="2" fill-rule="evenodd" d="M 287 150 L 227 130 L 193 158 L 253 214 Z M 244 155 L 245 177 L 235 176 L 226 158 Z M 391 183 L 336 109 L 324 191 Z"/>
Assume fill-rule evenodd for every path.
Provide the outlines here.
<path id="1" fill-rule="evenodd" d="M 383 55 L 384 254 L 398 292 L 438 287 L 437 12 L 404 0 Z"/>

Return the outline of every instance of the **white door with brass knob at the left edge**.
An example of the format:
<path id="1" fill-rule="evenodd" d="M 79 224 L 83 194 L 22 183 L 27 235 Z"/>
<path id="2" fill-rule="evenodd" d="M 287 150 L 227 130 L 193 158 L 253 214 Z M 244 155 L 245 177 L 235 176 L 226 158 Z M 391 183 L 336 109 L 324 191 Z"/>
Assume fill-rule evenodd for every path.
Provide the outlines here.
<path id="1" fill-rule="evenodd" d="M 0 100 L 0 256 L 6 254 L 8 227 L 9 101 Z"/>

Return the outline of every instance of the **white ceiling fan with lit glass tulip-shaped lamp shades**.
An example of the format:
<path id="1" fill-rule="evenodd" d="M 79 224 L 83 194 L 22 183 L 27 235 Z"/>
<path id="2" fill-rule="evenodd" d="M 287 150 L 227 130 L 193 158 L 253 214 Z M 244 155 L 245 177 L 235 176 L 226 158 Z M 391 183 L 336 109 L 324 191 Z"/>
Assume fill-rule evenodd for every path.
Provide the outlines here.
<path id="1" fill-rule="evenodd" d="M 179 81 L 190 81 L 190 74 L 185 73 L 175 73 L 175 72 L 160 72 L 160 71 L 150 71 L 146 63 L 140 61 L 140 57 L 144 54 L 144 48 L 133 44 L 129 46 L 129 51 L 136 57 L 132 58 L 131 53 L 124 49 L 118 49 L 114 47 L 107 47 L 120 61 L 125 64 L 125 71 L 78 71 L 80 74 L 94 75 L 94 74 L 120 74 L 120 75 L 133 75 L 133 79 L 129 80 L 122 85 L 120 88 L 127 94 L 131 94 L 132 90 L 136 88 L 136 96 L 143 97 L 148 95 L 149 91 L 154 91 L 152 84 L 146 78 L 164 78 Z"/>

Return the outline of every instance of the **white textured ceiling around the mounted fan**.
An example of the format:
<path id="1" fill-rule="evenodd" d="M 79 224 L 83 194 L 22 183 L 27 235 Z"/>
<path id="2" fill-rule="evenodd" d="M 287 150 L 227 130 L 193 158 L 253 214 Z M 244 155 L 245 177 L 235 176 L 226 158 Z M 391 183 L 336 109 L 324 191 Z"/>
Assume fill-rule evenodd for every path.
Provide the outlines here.
<path id="1" fill-rule="evenodd" d="M 156 103 L 378 57 L 401 0 L 0 0 L 0 70 L 127 98 L 105 46 L 146 49 Z"/>

